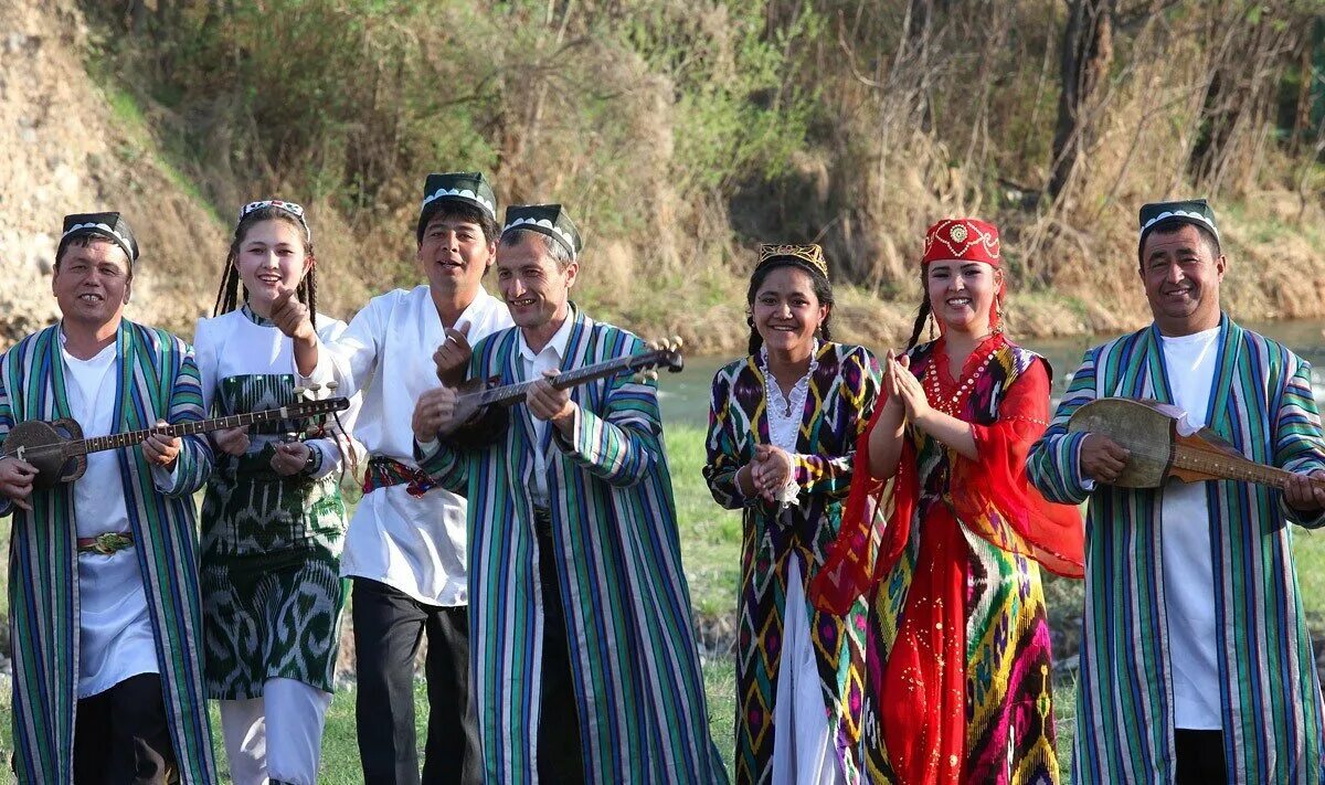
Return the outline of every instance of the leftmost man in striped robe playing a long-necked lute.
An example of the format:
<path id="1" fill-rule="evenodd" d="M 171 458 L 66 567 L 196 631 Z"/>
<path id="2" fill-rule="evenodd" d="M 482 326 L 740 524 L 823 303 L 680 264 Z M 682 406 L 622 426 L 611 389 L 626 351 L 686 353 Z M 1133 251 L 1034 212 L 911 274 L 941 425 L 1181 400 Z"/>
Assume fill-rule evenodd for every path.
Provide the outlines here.
<path id="1" fill-rule="evenodd" d="M 91 438 L 203 419 L 193 350 L 123 318 L 136 260 L 119 213 L 65 217 L 61 320 L 0 359 L 0 442 L 24 420 L 72 418 Z M 20 782 L 216 781 L 192 499 L 211 467 L 205 438 L 162 434 L 45 489 L 0 459 Z"/>

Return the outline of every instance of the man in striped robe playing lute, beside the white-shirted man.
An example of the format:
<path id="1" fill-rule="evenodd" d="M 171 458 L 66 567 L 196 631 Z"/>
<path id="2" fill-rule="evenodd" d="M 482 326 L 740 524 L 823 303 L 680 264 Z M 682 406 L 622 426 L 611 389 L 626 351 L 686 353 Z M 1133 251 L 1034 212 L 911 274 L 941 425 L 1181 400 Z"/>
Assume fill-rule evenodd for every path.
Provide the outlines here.
<path id="1" fill-rule="evenodd" d="M 526 402 L 476 450 L 437 440 L 453 389 L 413 414 L 420 465 L 470 503 L 484 781 L 721 782 L 656 389 L 546 379 L 643 349 L 567 300 L 579 252 L 560 206 L 509 208 L 497 281 L 518 329 L 480 341 L 469 374 L 533 381 Z"/>

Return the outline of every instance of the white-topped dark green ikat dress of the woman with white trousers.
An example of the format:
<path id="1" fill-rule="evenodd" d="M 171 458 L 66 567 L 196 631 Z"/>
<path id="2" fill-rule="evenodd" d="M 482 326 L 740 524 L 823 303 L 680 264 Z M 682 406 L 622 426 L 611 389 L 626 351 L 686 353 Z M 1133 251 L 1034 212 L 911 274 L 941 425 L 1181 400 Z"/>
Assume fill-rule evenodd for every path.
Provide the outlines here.
<path id="1" fill-rule="evenodd" d="M 323 341 L 343 322 L 318 317 Z M 290 404 L 290 339 L 248 306 L 197 326 L 196 350 L 213 416 Z M 313 428 L 313 432 L 310 432 Z M 216 451 L 201 514 L 201 589 L 208 695 L 244 700 L 268 679 L 303 682 L 326 692 L 341 635 L 344 585 L 339 556 L 346 509 L 338 471 L 342 439 L 334 424 L 252 426 L 248 453 Z M 272 469 L 276 444 L 301 439 L 310 471 Z"/>

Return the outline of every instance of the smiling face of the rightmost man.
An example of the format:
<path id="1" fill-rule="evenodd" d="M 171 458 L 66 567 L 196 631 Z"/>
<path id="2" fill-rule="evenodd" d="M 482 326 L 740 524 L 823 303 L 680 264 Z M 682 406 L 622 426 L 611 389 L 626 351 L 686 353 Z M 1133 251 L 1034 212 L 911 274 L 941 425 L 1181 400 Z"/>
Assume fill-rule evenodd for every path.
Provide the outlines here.
<path id="1" fill-rule="evenodd" d="M 1219 282 L 1227 261 L 1200 229 L 1155 229 L 1141 248 L 1141 281 L 1159 332 L 1190 335 L 1219 325 Z"/>

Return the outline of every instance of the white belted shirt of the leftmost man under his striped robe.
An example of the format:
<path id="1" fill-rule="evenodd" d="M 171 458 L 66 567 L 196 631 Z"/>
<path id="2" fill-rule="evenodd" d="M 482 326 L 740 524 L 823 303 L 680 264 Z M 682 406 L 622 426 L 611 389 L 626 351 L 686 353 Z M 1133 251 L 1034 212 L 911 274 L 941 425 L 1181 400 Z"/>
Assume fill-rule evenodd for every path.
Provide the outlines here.
<path id="1" fill-rule="evenodd" d="M 85 438 L 110 434 L 115 426 L 117 343 L 91 359 L 69 354 L 62 332 L 60 345 L 69 415 Z M 118 450 L 87 455 L 87 471 L 73 487 L 78 537 L 131 530 L 119 457 Z M 78 554 L 78 697 L 105 692 L 130 676 L 156 672 L 156 643 L 136 546 L 110 556 Z"/>

